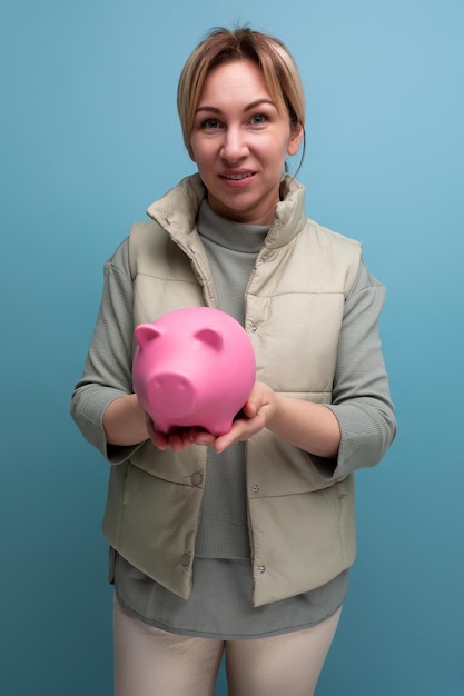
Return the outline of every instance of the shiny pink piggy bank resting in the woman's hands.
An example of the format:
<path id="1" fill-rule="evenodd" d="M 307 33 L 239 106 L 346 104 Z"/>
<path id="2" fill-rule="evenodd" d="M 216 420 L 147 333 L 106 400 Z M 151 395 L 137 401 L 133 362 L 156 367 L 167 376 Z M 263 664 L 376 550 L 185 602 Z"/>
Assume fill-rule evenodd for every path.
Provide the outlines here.
<path id="1" fill-rule="evenodd" d="M 251 342 L 238 321 L 211 307 L 189 307 L 136 327 L 134 389 L 160 432 L 230 430 L 256 377 Z"/>

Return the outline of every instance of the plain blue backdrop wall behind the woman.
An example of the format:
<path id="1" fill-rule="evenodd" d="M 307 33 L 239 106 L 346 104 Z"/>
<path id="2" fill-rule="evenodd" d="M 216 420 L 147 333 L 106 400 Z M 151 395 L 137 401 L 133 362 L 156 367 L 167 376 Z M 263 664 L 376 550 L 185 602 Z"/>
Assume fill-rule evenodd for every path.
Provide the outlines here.
<path id="1" fill-rule="evenodd" d="M 308 103 L 308 215 L 361 239 L 388 287 L 399 435 L 357 475 L 358 557 L 317 695 L 464 694 L 464 3 L 3 0 L 6 696 L 111 694 L 108 466 L 69 399 L 102 262 L 192 171 L 175 107 L 181 66 L 209 28 L 236 20 L 293 50 Z"/>

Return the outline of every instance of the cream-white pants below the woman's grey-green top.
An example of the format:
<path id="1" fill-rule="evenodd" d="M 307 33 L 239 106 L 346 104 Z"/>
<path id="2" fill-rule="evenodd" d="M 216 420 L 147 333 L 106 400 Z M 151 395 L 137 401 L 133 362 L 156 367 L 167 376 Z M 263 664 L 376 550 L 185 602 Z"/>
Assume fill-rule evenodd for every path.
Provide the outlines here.
<path id="1" fill-rule="evenodd" d="M 213 696 L 223 653 L 228 696 L 312 696 L 340 613 L 305 630 L 224 642 L 154 628 L 115 599 L 115 696 Z"/>

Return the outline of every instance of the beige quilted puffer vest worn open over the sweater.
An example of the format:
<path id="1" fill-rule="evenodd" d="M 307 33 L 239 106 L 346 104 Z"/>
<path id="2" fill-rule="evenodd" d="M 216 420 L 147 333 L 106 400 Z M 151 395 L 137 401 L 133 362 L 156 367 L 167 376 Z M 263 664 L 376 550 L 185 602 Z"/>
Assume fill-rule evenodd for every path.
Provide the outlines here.
<path id="1" fill-rule="evenodd" d="M 285 199 L 246 291 L 245 328 L 257 378 L 276 391 L 330 402 L 344 304 L 361 248 L 304 213 L 304 189 Z M 187 306 L 215 306 L 195 218 L 205 189 L 188 177 L 130 232 L 135 325 Z M 206 448 L 180 454 L 146 443 L 111 469 L 103 531 L 132 565 L 182 598 L 192 583 Z M 355 556 L 352 476 L 327 480 L 310 455 L 264 430 L 247 443 L 255 606 L 319 587 Z"/>

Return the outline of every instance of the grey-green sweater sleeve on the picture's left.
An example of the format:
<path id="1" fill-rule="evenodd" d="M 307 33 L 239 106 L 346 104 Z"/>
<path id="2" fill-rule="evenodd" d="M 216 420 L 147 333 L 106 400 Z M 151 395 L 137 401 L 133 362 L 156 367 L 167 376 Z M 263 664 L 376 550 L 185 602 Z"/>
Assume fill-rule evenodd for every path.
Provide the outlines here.
<path id="1" fill-rule="evenodd" d="M 71 398 L 71 416 L 85 438 L 111 463 L 126 460 L 138 446 L 108 445 L 102 425 L 106 408 L 132 394 L 132 279 L 128 240 L 105 264 L 103 291 L 93 336 Z"/>

